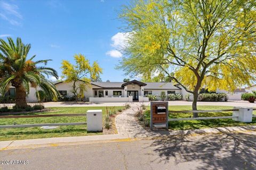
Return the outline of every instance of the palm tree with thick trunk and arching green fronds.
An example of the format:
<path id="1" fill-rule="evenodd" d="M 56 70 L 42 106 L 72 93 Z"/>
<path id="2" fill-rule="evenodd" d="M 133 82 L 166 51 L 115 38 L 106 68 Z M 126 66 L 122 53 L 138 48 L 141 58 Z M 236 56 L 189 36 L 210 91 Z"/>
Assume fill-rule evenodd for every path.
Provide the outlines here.
<path id="1" fill-rule="evenodd" d="M 27 60 L 30 44 L 23 44 L 17 38 L 16 45 L 13 39 L 8 37 L 8 43 L 0 39 L 0 94 L 4 95 L 10 86 L 15 87 L 15 103 L 18 107 L 27 106 L 26 96 L 30 87 L 43 90 L 53 99 L 59 96 L 54 84 L 45 78 L 49 75 L 58 79 L 58 73 L 50 67 L 46 67 L 48 61 L 32 61 L 35 55 Z M 44 66 L 37 66 L 38 64 Z"/>

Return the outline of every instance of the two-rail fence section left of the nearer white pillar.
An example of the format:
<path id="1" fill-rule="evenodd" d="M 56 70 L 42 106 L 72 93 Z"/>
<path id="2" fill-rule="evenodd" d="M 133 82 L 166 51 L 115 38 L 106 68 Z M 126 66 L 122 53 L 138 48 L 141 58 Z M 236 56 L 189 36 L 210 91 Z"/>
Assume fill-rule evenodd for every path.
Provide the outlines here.
<path id="1" fill-rule="evenodd" d="M 85 113 L 81 114 L 51 114 L 51 115 L 5 115 L 0 118 L 32 118 L 32 117 L 63 117 L 63 116 L 86 116 Z M 17 124 L 17 125 L 0 125 L 1 128 L 29 128 L 37 126 L 67 126 L 67 125 L 85 125 L 87 122 L 74 122 L 74 123 L 43 123 L 43 124 Z"/>

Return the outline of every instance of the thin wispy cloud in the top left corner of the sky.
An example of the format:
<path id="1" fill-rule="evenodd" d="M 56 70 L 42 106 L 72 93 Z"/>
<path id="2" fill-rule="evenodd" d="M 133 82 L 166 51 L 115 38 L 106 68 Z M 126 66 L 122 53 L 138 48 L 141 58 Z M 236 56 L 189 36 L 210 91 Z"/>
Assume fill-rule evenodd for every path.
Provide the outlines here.
<path id="1" fill-rule="evenodd" d="M 21 25 L 22 15 L 18 12 L 19 7 L 15 4 L 9 4 L 1 1 L 0 16 L 3 20 L 8 21 L 12 25 Z"/>

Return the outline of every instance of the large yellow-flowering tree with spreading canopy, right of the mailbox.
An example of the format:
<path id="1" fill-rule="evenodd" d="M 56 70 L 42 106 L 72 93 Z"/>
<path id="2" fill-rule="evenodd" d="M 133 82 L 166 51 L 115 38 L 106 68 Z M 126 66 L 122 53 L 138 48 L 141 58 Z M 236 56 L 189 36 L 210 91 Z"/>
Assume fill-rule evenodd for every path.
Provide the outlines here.
<path id="1" fill-rule="evenodd" d="M 117 68 L 144 78 L 164 72 L 193 94 L 193 110 L 202 87 L 232 91 L 250 84 L 256 79 L 253 2 L 134 1 L 121 14 L 130 36 Z"/>

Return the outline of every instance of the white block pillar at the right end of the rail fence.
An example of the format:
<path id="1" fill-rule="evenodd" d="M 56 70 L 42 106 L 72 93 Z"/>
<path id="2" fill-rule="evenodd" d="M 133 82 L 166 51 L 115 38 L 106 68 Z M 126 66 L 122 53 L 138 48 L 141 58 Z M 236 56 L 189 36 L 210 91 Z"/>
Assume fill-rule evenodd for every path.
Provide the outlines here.
<path id="1" fill-rule="evenodd" d="M 238 109 L 238 111 L 233 111 L 233 116 L 238 116 L 232 118 L 233 121 L 238 122 L 252 122 L 252 108 L 250 107 L 234 107 L 234 109 Z"/>

